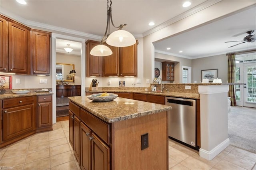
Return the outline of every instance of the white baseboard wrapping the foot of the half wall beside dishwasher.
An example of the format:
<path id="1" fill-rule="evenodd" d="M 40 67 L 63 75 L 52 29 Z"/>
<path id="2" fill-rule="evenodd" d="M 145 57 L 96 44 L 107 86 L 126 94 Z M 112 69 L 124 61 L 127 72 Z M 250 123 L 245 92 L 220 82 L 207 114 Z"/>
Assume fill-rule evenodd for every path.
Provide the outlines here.
<path id="1" fill-rule="evenodd" d="M 228 145 L 230 144 L 229 138 L 218 144 L 215 148 L 212 150 L 204 150 L 202 148 L 199 149 L 199 156 L 202 158 L 205 158 L 207 160 L 212 160 L 215 156 L 217 156 L 222 150 L 224 150 Z"/>

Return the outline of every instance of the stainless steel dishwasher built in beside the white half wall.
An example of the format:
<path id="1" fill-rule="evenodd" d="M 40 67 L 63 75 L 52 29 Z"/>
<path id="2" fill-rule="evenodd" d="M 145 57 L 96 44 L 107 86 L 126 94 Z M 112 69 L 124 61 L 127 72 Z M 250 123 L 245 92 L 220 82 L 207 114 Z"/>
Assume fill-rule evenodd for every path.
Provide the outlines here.
<path id="1" fill-rule="evenodd" d="M 196 148 L 196 100 L 165 97 L 169 112 L 169 136 L 174 140 Z"/>

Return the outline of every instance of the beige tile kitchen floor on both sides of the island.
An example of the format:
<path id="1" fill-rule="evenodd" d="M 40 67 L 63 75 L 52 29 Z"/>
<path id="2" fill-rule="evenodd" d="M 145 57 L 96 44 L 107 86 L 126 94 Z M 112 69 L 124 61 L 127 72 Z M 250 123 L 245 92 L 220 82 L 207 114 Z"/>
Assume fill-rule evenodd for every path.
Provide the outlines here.
<path id="1" fill-rule="evenodd" d="M 52 131 L 34 134 L 0 150 L 0 169 L 79 170 L 68 142 L 68 121 L 57 122 Z M 256 154 L 228 146 L 213 160 L 198 151 L 169 140 L 170 170 L 256 170 Z"/>

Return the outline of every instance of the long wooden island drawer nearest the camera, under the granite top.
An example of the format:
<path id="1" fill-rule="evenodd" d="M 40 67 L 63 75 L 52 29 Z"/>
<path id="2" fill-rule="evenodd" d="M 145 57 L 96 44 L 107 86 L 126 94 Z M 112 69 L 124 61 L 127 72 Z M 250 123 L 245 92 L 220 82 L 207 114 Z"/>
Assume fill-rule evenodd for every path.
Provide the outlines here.
<path id="1" fill-rule="evenodd" d="M 110 144 L 110 125 L 80 109 L 80 119 L 92 129 L 104 142 Z"/>

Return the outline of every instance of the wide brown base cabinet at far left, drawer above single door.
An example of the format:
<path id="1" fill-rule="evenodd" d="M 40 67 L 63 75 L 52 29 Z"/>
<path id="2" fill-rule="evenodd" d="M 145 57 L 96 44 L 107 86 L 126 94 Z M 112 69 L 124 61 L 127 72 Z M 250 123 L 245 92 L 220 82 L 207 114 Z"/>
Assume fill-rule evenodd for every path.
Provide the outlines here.
<path id="1" fill-rule="evenodd" d="M 36 132 L 36 97 L 2 99 L 1 147 Z"/>

